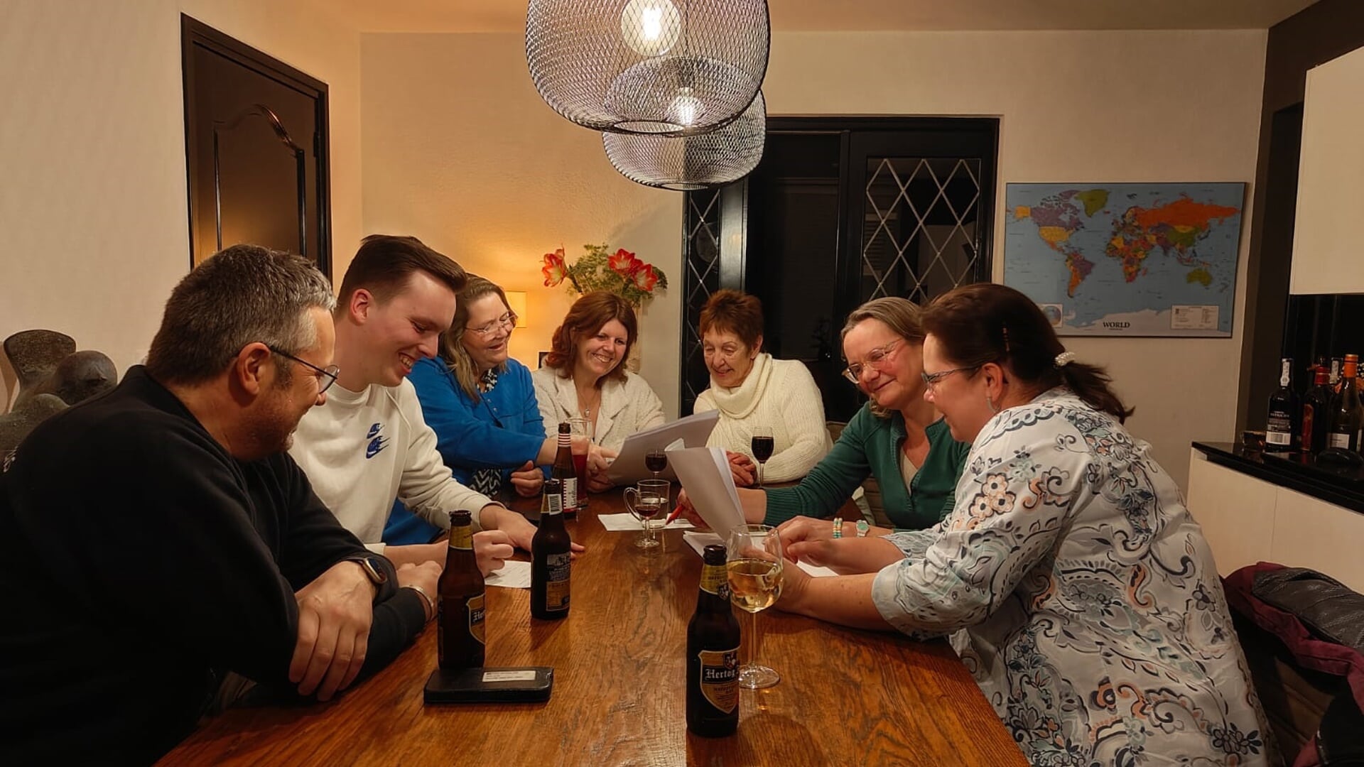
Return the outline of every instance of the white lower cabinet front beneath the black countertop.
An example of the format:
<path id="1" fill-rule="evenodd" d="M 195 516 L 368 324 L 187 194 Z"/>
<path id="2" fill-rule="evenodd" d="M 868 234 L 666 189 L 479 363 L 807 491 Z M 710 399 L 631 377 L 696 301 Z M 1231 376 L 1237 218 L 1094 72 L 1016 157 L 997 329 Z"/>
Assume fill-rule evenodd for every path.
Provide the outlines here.
<path id="1" fill-rule="evenodd" d="M 1198 449 L 1187 502 L 1218 573 L 1278 562 L 1364 592 L 1364 515 L 1214 464 Z"/>

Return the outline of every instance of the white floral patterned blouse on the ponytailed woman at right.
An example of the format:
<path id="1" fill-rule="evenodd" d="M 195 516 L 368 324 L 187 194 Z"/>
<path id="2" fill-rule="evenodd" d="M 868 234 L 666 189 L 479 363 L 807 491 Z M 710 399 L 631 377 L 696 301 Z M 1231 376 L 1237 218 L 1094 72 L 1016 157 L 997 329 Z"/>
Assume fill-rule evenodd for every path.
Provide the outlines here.
<path id="1" fill-rule="evenodd" d="M 889 539 L 877 609 L 951 633 L 1033 764 L 1278 762 L 1178 487 L 1068 389 L 990 419 L 955 509 Z"/>

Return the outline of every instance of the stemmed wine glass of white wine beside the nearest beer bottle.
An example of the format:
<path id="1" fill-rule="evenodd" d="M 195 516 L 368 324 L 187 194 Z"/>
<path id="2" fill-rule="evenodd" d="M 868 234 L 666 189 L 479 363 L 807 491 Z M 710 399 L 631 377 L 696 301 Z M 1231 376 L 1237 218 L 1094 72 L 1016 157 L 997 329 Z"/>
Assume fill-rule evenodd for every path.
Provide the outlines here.
<path id="1" fill-rule="evenodd" d="M 771 607 L 782 595 L 782 538 L 775 527 L 741 524 L 730 531 L 724 557 L 730 600 L 753 616 L 749 662 L 739 666 L 739 686 L 772 686 L 782 676 L 758 663 L 758 610 Z"/>

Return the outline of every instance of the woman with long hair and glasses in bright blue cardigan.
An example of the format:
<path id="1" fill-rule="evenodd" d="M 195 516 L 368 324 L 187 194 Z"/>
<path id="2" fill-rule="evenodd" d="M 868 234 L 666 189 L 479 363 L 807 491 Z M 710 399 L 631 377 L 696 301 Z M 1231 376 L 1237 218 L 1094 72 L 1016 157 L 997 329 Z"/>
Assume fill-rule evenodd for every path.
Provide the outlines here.
<path id="1" fill-rule="evenodd" d="M 469 274 L 439 356 L 419 360 L 408 377 L 450 472 L 490 498 L 509 487 L 539 494 L 539 467 L 552 464 L 558 449 L 557 435 L 546 437 L 531 371 L 507 353 L 516 321 L 502 288 Z M 400 502 L 383 540 L 426 543 L 439 532 Z"/>

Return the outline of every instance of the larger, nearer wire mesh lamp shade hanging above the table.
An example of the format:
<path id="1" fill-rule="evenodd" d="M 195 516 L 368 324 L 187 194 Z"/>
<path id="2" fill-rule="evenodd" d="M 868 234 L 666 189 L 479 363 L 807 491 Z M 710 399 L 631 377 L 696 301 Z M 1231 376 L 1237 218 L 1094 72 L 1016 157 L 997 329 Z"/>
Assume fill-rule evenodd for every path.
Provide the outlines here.
<path id="1" fill-rule="evenodd" d="M 767 74 L 767 0 L 531 0 L 525 59 L 555 112 L 596 131 L 694 135 Z"/>

